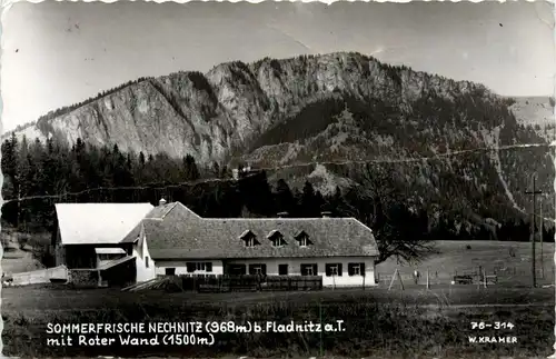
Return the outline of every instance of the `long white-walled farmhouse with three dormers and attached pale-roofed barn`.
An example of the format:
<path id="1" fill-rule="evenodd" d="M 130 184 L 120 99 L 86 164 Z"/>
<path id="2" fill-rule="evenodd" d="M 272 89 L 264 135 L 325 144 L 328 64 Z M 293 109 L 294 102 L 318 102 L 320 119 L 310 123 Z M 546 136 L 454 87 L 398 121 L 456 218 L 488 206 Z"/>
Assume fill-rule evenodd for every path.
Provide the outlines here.
<path id="1" fill-rule="evenodd" d="M 57 211 L 63 206 L 88 205 L 57 206 Z M 118 208 L 123 205 L 106 206 Z M 353 218 L 201 218 L 180 202 L 167 203 L 163 200 L 140 216 L 147 206 L 138 206 L 135 217 L 121 211 L 105 221 L 105 215 L 97 213 L 99 217 L 95 218 L 96 225 L 92 226 L 95 230 L 85 229 L 87 223 L 81 222 L 83 227 L 79 228 L 88 236 L 83 235 L 80 243 L 96 249 L 96 256 L 92 252 L 87 256 L 89 267 L 105 269 L 107 266 L 113 268 L 132 262 L 135 281 L 138 282 L 159 275 L 260 273 L 322 276 L 324 286 L 336 287 L 376 283 L 375 259 L 378 250 L 375 238 L 368 227 Z M 64 218 L 60 218 L 63 212 L 58 212 L 59 223 L 64 222 Z M 121 235 L 122 230 L 111 231 L 110 222 L 118 222 L 123 217 L 129 230 L 125 235 Z M 105 227 L 99 228 L 101 222 Z M 68 268 L 86 262 L 86 258 L 79 258 L 85 251 L 70 250 L 69 246 L 75 246 L 72 231 L 64 232 L 62 225 L 59 228 Z M 108 231 L 110 236 L 97 236 L 97 230 L 101 233 Z M 110 246 L 105 246 L 107 242 Z M 68 256 L 75 258 L 68 260 Z"/>

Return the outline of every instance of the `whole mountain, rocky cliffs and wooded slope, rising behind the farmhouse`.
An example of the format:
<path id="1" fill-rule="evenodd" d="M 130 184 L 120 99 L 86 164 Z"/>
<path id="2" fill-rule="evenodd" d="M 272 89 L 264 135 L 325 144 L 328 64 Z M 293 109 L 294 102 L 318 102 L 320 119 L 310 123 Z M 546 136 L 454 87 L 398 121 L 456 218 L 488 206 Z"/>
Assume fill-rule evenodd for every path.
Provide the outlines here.
<path id="1" fill-rule="evenodd" d="M 199 163 L 241 159 L 280 167 L 274 174 L 294 181 L 318 178 L 324 190 L 347 186 L 353 170 L 373 163 L 370 177 L 390 173 L 415 202 L 455 196 L 473 217 L 493 206 L 523 209 L 535 171 L 550 189 L 548 138 L 512 112 L 530 117 L 525 108 L 481 84 L 340 52 L 141 79 L 49 113 L 20 134 L 189 153 Z"/>

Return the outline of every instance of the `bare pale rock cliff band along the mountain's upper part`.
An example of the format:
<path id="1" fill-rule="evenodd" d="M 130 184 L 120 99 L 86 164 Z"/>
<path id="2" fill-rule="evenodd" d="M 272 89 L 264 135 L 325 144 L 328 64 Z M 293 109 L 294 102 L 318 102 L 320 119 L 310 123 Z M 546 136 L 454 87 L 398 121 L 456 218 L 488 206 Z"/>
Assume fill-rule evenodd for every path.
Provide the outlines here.
<path id="1" fill-rule="evenodd" d="M 199 162 L 222 159 L 314 99 L 348 93 L 410 109 L 435 91 L 453 99 L 484 91 L 409 69 L 396 69 L 358 53 L 331 53 L 256 63 L 230 62 L 207 74 L 178 72 L 132 82 L 112 93 L 38 120 L 30 136 L 60 136 L 68 142 L 118 143 L 121 149 Z M 39 133 L 37 133 L 39 132 Z"/>

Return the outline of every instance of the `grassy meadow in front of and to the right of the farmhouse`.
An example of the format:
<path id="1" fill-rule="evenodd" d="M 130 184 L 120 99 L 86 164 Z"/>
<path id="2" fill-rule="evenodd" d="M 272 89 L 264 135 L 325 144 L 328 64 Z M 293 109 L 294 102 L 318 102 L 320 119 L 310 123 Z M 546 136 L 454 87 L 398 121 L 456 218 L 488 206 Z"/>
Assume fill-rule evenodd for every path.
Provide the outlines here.
<path id="1" fill-rule="evenodd" d="M 387 283 L 378 288 L 329 289 L 308 292 L 168 293 L 121 292 L 117 289 L 71 290 L 64 286 L 9 287 L 2 289 L 3 353 L 7 356 L 77 356 L 82 347 L 48 347 L 48 322 L 145 322 L 145 321 L 276 321 L 332 322 L 344 320 L 346 331 L 215 335 L 214 346 L 186 347 L 88 347 L 87 356 L 188 356 L 257 358 L 498 358 L 543 357 L 554 352 L 554 287 L 530 288 L 527 243 L 471 242 L 439 245 L 441 253 L 417 266 L 438 271 L 426 290 L 423 280 L 405 290 Z M 553 246 L 545 245 L 547 263 Z M 548 247 L 550 246 L 550 247 Z M 549 249 L 547 249 L 549 248 Z M 507 258 L 506 258 L 507 257 Z M 548 261 L 548 258 L 550 261 Z M 512 273 L 500 285 L 451 286 L 450 269 L 473 270 L 479 265 L 494 270 L 504 261 Z M 499 263 L 499 262 L 498 262 Z M 490 267 L 489 267 L 490 266 Z M 414 267 L 388 261 L 378 267 L 386 277 L 399 268 L 406 277 Z M 425 269 L 426 270 L 426 269 Z M 456 269 L 454 269 L 456 270 Z M 499 271 L 500 272 L 500 271 Z M 504 271 L 502 271 L 504 272 Z M 545 281 L 552 267 L 545 269 Z M 435 276 L 436 278 L 436 276 Z M 513 280 L 513 282 L 510 282 Z M 510 286 L 512 283 L 512 286 Z M 512 322 L 505 330 L 471 329 L 471 322 Z M 201 335 L 206 337 L 207 335 Z M 474 336 L 513 336 L 516 343 L 470 343 Z"/>

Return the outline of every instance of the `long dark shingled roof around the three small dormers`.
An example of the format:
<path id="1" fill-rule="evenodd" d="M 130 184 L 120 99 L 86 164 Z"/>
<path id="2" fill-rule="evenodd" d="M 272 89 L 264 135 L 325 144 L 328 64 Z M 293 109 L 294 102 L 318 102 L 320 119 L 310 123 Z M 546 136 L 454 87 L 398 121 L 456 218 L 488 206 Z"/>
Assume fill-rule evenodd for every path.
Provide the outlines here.
<path id="1" fill-rule="evenodd" d="M 354 218 L 209 219 L 181 203 L 165 216 L 143 219 L 125 241 L 135 241 L 145 230 L 153 259 L 378 256 L 373 231 Z M 260 245 L 245 246 L 240 237 L 247 230 Z M 284 247 L 272 247 L 272 231 L 282 235 Z M 302 231 L 311 241 L 305 248 L 296 240 Z"/>

